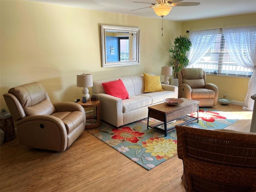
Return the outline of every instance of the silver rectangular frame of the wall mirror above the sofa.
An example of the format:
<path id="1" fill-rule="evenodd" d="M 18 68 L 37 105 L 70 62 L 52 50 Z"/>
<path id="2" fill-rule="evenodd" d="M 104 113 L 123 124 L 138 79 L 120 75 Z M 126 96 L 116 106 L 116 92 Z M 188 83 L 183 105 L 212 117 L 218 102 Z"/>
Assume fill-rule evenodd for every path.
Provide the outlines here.
<path id="1" fill-rule="evenodd" d="M 125 32 L 136 35 L 136 59 L 129 61 L 107 62 L 106 32 Z M 102 67 L 119 67 L 140 64 L 140 28 L 101 25 Z"/>

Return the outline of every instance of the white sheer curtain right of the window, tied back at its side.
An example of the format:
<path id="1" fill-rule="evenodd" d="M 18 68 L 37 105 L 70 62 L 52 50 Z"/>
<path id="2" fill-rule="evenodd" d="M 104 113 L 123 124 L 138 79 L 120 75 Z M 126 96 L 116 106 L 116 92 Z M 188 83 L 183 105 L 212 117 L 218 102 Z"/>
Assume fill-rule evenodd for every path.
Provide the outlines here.
<path id="1" fill-rule="evenodd" d="M 252 111 L 254 100 L 251 96 L 256 94 L 256 26 L 223 28 L 222 31 L 232 59 L 239 66 L 254 70 L 243 107 L 244 110 Z"/>

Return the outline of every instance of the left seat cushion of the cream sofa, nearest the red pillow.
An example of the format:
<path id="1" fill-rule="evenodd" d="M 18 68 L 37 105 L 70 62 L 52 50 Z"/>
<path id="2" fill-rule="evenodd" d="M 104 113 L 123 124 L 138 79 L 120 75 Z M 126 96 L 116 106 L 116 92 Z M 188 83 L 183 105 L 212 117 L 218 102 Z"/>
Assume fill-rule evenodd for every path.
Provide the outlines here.
<path id="1" fill-rule="evenodd" d="M 142 108 L 144 106 L 150 105 L 152 103 L 152 99 L 147 96 L 132 96 L 129 99 L 123 100 L 123 113 L 135 110 L 138 108 Z"/>

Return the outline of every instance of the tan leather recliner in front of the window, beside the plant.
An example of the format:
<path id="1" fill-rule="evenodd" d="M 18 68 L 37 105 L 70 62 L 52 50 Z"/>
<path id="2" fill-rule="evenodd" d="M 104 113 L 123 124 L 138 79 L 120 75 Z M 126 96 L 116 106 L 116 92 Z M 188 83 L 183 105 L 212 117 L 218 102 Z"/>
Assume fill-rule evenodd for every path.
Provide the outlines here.
<path id="1" fill-rule="evenodd" d="M 178 98 L 200 101 L 200 107 L 216 106 L 218 87 L 206 83 L 206 74 L 202 68 L 182 68 L 178 72 L 178 82 Z"/>

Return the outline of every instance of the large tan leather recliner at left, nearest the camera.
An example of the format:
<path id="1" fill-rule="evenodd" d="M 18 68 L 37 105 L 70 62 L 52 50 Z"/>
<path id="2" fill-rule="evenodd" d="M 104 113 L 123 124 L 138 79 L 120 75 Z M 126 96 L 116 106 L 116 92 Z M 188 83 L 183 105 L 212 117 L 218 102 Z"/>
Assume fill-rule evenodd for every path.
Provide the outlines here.
<path id="1" fill-rule="evenodd" d="M 52 104 L 40 82 L 11 88 L 3 96 L 16 124 L 20 144 L 64 151 L 84 131 L 84 108 L 74 102 Z"/>

